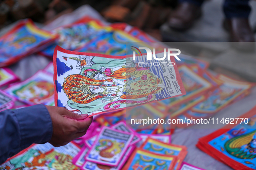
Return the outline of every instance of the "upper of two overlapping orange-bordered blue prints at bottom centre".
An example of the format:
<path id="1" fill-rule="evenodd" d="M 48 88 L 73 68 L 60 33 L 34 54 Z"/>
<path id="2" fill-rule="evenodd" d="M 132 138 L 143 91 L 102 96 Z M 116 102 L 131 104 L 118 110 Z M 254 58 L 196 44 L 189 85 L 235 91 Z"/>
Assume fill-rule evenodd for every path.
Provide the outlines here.
<path id="1" fill-rule="evenodd" d="M 185 146 L 166 144 L 156 139 L 148 138 L 143 145 L 142 149 L 151 151 L 156 154 L 173 155 L 177 156 L 177 163 L 175 164 L 175 170 L 181 166 L 182 161 L 185 159 L 188 151 Z"/>

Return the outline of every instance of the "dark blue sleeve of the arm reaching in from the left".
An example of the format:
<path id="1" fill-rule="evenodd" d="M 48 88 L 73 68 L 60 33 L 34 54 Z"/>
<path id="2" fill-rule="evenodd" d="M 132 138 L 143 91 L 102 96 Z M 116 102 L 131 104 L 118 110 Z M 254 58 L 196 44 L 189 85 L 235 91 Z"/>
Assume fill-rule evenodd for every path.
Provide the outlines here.
<path id="1" fill-rule="evenodd" d="M 0 164 L 29 147 L 52 138 L 52 119 L 43 104 L 0 112 Z"/>

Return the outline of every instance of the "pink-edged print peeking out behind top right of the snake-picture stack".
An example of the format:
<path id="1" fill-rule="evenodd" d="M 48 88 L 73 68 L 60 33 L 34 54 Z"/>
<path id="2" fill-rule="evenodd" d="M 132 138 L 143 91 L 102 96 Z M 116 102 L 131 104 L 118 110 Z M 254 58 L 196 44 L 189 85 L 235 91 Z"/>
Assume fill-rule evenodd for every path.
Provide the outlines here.
<path id="1" fill-rule="evenodd" d="M 126 127 L 126 123 L 124 121 L 119 122 L 119 123 L 111 126 L 111 128 L 116 129 L 116 130 L 120 130 L 122 132 L 133 133 L 134 136 L 133 136 L 133 140 L 130 143 L 130 145 L 136 144 L 137 142 L 139 142 L 141 140 L 139 135 L 133 129 L 129 129 L 129 128 Z"/>

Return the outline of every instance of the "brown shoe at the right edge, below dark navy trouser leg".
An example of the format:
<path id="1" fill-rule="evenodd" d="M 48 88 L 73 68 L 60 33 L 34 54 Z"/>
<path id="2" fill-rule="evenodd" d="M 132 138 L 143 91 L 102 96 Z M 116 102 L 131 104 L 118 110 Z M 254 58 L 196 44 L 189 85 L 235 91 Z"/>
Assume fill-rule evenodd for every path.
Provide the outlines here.
<path id="1" fill-rule="evenodd" d="M 232 45 L 239 50 L 254 50 L 255 39 L 249 21 L 246 18 L 224 20 L 224 28 L 230 32 Z"/>

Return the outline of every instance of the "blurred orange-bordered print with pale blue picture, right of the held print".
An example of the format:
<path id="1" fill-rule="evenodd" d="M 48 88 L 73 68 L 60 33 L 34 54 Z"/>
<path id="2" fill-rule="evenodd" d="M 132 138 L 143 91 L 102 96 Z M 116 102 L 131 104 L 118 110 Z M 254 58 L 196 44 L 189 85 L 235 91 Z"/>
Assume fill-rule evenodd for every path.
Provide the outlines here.
<path id="1" fill-rule="evenodd" d="M 216 113 L 228 104 L 236 101 L 236 99 L 243 98 L 248 90 L 255 85 L 255 83 L 240 82 L 230 79 L 224 75 L 220 75 L 218 79 L 222 81 L 223 84 L 212 91 L 207 100 L 194 106 L 192 111 L 198 113 Z"/>

